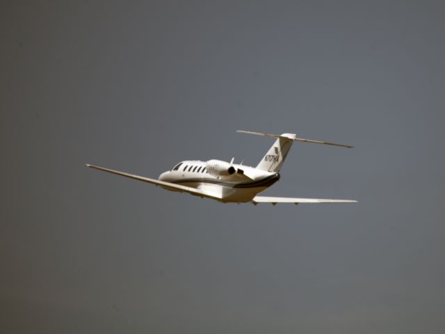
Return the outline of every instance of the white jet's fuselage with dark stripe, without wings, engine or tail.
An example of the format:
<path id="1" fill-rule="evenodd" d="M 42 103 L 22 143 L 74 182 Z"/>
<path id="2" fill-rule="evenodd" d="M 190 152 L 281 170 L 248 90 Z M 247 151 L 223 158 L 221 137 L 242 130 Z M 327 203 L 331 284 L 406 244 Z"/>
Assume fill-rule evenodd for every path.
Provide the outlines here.
<path id="1" fill-rule="evenodd" d="M 234 173 L 218 175 L 207 170 L 206 165 L 207 161 L 181 161 L 159 175 L 159 180 L 209 191 L 220 196 L 223 202 L 249 202 L 257 193 L 280 180 L 279 173 L 250 166 L 232 164 Z"/>

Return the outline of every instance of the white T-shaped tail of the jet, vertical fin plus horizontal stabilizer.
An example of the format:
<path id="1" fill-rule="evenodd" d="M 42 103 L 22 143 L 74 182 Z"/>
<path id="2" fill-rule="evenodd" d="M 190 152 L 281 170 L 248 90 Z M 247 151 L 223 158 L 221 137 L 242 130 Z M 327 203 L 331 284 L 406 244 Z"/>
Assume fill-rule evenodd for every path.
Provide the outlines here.
<path id="1" fill-rule="evenodd" d="M 325 145 L 341 146 L 343 148 L 353 148 L 350 145 L 342 145 L 336 143 L 330 143 L 327 141 L 314 141 L 311 139 L 298 138 L 296 134 L 263 134 L 261 132 L 252 132 L 244 130 L 236 130 L 243 134 L 257 134 L 258 136 L 266 136 L 271 138 L 276 138 L 277 140 L 273 143 L 272 147 L 268 150 L 266 155 L 259 161 L 257 166 L 258 169 L 267 170 L 268 172 L 279 172 L 283 166 L 284 159 L 286 159 L 289 150 L 294 141 L 301 141 L 303 143 L 316 143 Z"/>

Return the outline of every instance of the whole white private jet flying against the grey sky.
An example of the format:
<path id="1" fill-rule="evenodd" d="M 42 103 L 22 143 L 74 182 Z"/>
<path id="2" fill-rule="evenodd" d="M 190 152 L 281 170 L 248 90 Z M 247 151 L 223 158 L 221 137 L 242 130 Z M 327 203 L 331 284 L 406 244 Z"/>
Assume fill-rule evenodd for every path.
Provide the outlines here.
<path id="1" fill-rule="evenodd" d="M 300 203 L 357 202 L 356 200 L 287 198 L 257 195 L 280 180 L 280 169 L 293 142 L 334 145 L 343 148 L 353 148 L 353 146 L 299 138 L 296 134 L 276 135 L 245 130 L 236 130 L 236 132 L 275 138 L 275 143 L 273 143 L 256 167 L 245 166 L 242 163 L 234 164 L 234 158 L 232 158 L 230 162 L 217 159 L 208 161 L 186 160 L 179 162 L 171 170 L 167 170 L 159 175 L 158 180 L 91 164 L 86 164 L 85 166 L 151 183 L 170 191 L 190 193 L 194 196 L 210 198 L 224 203 L 251 202 L 254 205 L 258 203 L 271 203 L 272 205 L 276 205 L 277 203 L 293 203 L 298 205 Z"/>

